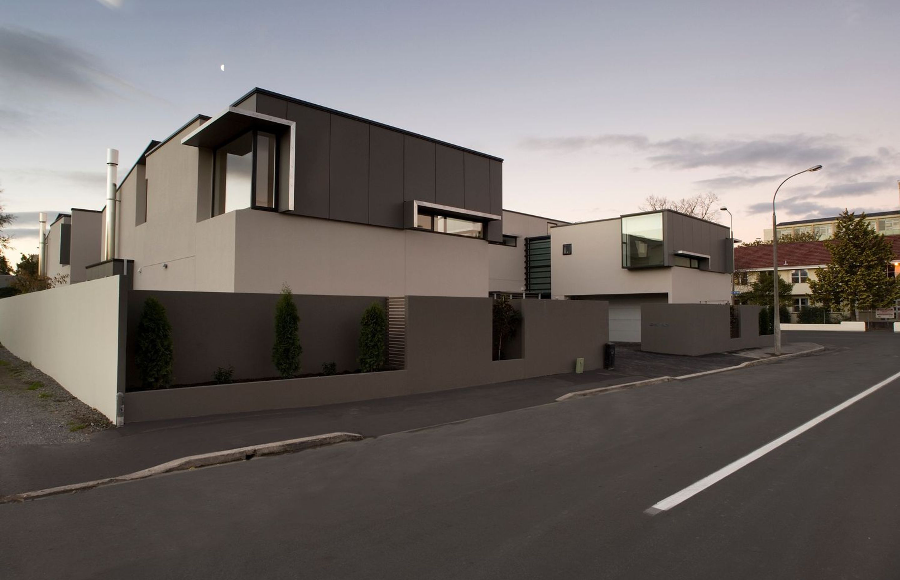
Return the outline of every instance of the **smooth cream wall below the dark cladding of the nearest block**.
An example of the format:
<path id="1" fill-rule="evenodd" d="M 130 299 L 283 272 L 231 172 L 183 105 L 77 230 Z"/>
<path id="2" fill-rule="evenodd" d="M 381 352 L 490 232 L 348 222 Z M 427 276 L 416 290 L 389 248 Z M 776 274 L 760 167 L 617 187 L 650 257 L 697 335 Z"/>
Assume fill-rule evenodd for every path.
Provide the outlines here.
<path id="1" fill-rule="evenodd" d="M 235 292 L 488 294 L 488 242 L 428 231 L 237 210 Z"/>

